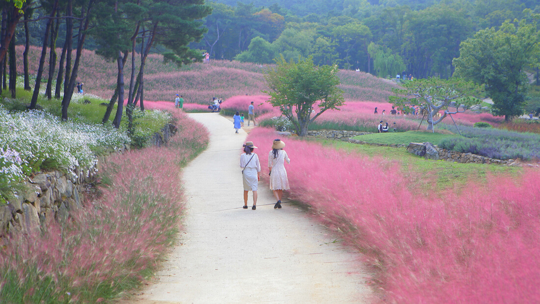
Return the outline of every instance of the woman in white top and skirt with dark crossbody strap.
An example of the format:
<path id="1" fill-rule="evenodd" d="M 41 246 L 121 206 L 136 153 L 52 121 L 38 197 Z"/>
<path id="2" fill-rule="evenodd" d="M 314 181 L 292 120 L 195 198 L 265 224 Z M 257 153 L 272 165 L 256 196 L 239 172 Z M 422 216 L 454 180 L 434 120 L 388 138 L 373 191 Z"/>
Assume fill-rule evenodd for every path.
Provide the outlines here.
<path id="1" fill-rule="evenodd" d="M 240 167 L 242 168 L 242 180 L 244 181 L 244 209 L 247 209 L 247 193 L 253 191 L 253 210 L 257 209 L 257 187 L 259 186 L 261 164 L 259 156 L 253 153 L 257 148 L 252 141 L 247 141 L 244 145 L 244 152 L 240 156 Z"/>

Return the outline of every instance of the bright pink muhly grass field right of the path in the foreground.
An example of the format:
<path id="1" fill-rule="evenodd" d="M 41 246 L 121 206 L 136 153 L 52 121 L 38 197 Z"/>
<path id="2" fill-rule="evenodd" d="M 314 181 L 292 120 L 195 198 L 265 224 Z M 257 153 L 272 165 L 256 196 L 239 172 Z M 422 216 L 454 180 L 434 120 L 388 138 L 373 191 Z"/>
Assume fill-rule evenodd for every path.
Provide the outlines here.
<path id="1" fill-rule="evenodd" d="M 266 157 L 275 138 L 255 129 L 248 140 Z M 384 302 L 540 302 L 538 170 L 425 194 L 429 176 L 399 163 L 284 141 L 288 197 L 358 248 Z"/>

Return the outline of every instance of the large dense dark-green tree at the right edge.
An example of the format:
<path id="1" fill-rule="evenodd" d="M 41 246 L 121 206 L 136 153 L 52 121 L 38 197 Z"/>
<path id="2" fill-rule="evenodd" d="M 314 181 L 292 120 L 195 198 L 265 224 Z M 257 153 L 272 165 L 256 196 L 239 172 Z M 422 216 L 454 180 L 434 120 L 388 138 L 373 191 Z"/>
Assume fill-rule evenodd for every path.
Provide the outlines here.
<path id="1" fill-rule="evenodd" d="M 454 59 L 456 74 L 485 85 L 492 113 L 506 121 L 523 114 L 529 79 L 523 69 L 538 66 L 540 31 L 536 23 L 505 22 L 501 28 L 478 31 L 461 44 Z"/>

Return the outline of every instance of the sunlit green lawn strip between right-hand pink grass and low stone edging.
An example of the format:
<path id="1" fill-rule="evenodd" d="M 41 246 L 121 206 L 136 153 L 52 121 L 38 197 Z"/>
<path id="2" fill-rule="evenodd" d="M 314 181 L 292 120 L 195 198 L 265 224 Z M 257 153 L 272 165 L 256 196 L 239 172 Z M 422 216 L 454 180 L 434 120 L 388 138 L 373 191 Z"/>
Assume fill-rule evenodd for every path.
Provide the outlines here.
<path id="1" fill-rule="evenodd" d="M 403 134 L 403 133 L 401 133 Z M 374 134 L 377 135 L 377 134 Z M 383 135 L 389 135 L 388 133 Z M 368 157 L 381 157 L 395 160 L 402 165 L 403 171 L 410 177 L 410 185 L 418 186 L 426 192 L 447 189 L 459 190 L 469 180 L 485 181 L 488 174 L 516 174 L 518 167 L 503 167 L 482 164 L 459 164 L 444 160 L 426 160 L 407 152 L 406 148 L 357 145 L 337 140 L 317 140 L 325 146 L 333 146 L 349 152 L 358 152 Z M 435 188 L 433 188 L 435 185 Z"/>

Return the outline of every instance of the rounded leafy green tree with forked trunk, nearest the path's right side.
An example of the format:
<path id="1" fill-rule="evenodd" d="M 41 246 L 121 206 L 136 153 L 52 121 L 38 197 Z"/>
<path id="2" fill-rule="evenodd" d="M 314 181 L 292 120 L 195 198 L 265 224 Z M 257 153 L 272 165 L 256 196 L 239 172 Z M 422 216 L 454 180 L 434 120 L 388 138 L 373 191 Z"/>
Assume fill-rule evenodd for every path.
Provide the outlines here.
<path id="1" fill-rule="evenodd" d="M 311 57 L 287 62 L 283 56 L 277 66 L 265 75 L 270 95 L 269 102 L 279 107 L 299 136 L 306 136 L 311 124 L 323 112 L 339 110 L 345 103 L 337 66 L 316 66 Z M 312 117 L 313 115 L 313 117 Z"/>

